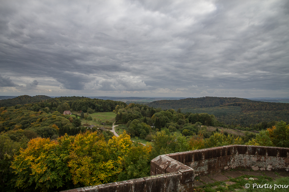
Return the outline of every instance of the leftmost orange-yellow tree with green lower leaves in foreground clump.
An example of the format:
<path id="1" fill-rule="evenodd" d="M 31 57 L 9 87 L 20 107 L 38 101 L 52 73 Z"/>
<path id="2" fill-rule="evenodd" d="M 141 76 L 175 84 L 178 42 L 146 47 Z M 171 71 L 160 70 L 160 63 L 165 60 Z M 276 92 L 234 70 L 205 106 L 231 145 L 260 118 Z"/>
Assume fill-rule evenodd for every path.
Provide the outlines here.
<path id="1" fill-rule="evenodd" d="M 11 165 L 16 175 L 15 187 L 22 191 L 68 188 L 71 174 L 67 163 L 72 140 L 67 134 L 59 138 L 61 144 L 44 138 L 30 140 Z"/>

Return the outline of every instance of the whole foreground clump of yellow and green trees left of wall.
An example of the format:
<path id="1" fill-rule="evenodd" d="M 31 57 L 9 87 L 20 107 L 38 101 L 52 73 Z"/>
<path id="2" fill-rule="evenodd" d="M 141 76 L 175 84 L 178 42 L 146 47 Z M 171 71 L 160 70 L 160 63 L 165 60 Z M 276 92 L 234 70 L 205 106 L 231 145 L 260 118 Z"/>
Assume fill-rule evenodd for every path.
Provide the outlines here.
<path id="1" fill-rule="evenodd" d="M 21 191 L 55 191 L 145 177 L 150 151 L 132 145 L 125 131 L 107 142 L 103 134 L 90 131 L 55 141 L 38 137 L 15 156 L 13 181 Z"/>

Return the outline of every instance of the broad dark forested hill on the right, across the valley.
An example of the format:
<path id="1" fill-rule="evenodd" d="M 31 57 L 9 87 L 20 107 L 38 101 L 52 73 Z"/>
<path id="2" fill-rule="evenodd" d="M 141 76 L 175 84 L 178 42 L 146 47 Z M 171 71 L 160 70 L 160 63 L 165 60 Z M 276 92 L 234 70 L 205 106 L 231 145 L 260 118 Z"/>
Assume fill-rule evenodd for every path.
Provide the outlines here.
<path id="1" fill-rule="evenodd" d="M 235 97 L 201 97 L 154 101 L 148 106 L 162 109 L 180 108 L 184 113 L 208 113 L 214 115 L 222 124 L 234 128 L 258 129 L 256 126 L 259 123 L 280 120 L 289 122 L 289 103 L 252 101 Z"/>

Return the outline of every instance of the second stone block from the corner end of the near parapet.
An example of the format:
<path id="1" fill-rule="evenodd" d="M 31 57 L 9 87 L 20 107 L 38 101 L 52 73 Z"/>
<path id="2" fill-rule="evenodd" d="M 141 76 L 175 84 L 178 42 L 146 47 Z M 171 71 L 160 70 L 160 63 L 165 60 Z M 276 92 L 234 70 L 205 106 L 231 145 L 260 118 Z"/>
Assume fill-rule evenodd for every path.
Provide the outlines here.
<path id="1" fill-rule="evenodd" d="M 145 180 L 145 192 L 164 192 L 165 191 L 165 176 L 154 175 L 150 177 L 144 177 Z"/>

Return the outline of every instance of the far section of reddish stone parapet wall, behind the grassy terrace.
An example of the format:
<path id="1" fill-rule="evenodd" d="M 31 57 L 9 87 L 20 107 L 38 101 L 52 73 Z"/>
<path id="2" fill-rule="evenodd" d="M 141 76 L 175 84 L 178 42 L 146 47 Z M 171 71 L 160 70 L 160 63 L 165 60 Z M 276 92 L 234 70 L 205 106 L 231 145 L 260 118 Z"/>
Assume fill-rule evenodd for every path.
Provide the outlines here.
<path id="1" fill-rule="evenodd" d="M 196 175 L 235 168 L 289 171 L 289 148 L 281 147 L 228 145 L 167 156 L 193 168 Z"/>

